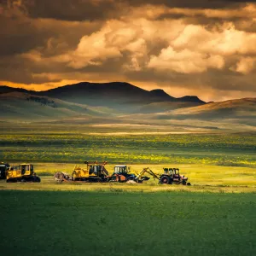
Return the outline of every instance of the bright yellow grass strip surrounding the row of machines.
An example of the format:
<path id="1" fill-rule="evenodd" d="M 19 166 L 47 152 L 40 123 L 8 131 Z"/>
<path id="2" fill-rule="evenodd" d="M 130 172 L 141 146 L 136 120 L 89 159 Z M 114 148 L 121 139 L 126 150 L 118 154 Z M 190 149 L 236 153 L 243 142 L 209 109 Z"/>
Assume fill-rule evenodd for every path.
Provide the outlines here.
<path id="1" fill-rule="evenodd" d="M 64 163 L 34 163 L 35 172 L 41 177 L 41 183 L 6 183 L 0 181 L 0 189 L 25 190 L 83 190 L 83 191 L 191 191 L 191 192 L 221 192 L 239 193 L 256 192 L 256 169 L 249 167 L 206 166 L 206 165 L 131 165 L 131 172 L 140 172 L 143 167 L 149 167 L 155 173 L 161 173 L 163 167 L 178 167 L 180 173 L 189 177 L 191 186 L 161 185 L 153 177 L 147 183 L 55 183 L 55 172 L 71 174 L 73 164 Z M 108 172 L 113 172 L 114 165 L 108 165 Z"/>

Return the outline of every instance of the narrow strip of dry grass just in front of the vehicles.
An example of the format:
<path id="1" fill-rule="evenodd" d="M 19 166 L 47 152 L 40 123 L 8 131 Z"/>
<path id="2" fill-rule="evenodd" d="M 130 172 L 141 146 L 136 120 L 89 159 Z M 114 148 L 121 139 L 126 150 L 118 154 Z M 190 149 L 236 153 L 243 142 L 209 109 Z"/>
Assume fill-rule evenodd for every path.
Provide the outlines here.
<path id="1" fill-rule="evenodd" d="M 42 183 L 5 183 L 0 181 L 0 190 L 40 190 L 40 191 L 84 191 L 84 192 L 195 192 L 195 193 L 256 193 L 256 188 L 237 185 L 161 185 L 156 181 L 151 183 L 55 183 L 53 177 L 41 177 Z"/>

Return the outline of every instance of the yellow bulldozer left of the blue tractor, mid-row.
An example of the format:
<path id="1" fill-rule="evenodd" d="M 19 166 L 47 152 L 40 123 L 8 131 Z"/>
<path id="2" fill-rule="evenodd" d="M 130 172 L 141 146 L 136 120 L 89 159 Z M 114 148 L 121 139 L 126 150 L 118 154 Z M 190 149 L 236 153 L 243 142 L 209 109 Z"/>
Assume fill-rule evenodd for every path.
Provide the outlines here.
<path id="1" fill-rule="evenodd" d="M 105 166 L 107 162 L 98 163 L 85 161 L 85 168 L 74 166 L 71 178 L 73 181 L 104 182 L 108 176 Z"/>

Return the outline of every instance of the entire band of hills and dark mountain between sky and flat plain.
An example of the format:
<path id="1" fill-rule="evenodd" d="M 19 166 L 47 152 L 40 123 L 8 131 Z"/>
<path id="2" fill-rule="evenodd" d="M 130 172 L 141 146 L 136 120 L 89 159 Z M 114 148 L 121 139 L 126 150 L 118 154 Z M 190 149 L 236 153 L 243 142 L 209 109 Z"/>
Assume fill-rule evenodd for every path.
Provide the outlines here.
<path id="1" fill-rule="evenodd" d="M 202 102 L 127 83 L 79 83 L 33 91 L 0 86 L 0 119 L 165 129 L 256 130 L 256 98 Z M 161 129 L 162 129 L 161 128 Z"/>

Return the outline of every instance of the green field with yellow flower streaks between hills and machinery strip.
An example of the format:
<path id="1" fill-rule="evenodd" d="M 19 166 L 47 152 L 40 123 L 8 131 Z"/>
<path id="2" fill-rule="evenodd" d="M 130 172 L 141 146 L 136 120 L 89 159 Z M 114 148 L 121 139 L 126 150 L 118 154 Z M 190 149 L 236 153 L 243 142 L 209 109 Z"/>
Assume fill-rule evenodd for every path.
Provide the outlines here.
<path id="1" fill-rule="evenodd" d="M 67 131 L 67 127 L 63 126 L 61 131 L 57 127 L 52 127 L 55 130 L 50 132 L 42 127 L 38 130 L 3 130 L 0 135 L 0 159 L 256 167 L 256 134 L 253 132 L 123 134 L 114 131 L 109 134 L 96 128 L 80 128 L 78 131 L 73 126 L 67 126 Z"/>

